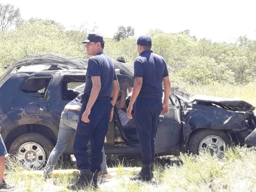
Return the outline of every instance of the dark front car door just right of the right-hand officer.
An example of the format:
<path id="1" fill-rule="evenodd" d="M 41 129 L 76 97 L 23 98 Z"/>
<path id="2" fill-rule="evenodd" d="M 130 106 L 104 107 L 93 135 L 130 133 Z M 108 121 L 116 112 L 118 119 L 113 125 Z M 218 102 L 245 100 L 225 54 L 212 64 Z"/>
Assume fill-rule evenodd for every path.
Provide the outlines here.
<path id="1" fill-rule="evenodd" d="M 156 153 L 159 155 L 176 154 L 179 152 L 182 126 L 180 107 L 174 95 L 169 97 L 169 111 L 160 115 L 155 137 Z"/>

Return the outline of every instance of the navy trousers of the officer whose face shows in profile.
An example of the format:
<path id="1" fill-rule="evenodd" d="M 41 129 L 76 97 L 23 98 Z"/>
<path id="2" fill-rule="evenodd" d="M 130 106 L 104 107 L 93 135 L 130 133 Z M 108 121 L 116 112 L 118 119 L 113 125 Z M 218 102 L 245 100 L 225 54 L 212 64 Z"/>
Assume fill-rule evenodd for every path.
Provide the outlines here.
<path id="1" fill-rule="evenodd" d="M 89 115 L 90 122 L 85 123 L 81 116 L 85 111 L 86 104 L 82 105 L 76 136 L 73 145 L 78 169 L 91 169 L 91 172 L 101 171 L 102 147 L 108 129 L 111 112 L 110 100 L 96 100 Z M 87 154 L 87 144 L 91 144 L 91 163 Z"/>

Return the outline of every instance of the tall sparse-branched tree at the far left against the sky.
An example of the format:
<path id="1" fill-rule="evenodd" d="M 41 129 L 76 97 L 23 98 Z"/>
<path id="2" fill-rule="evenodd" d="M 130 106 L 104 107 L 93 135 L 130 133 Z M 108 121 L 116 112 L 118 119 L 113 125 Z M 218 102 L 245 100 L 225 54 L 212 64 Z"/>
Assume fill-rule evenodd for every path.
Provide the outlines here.
<path id="1" fill-rule="evenodd" d="M 20 20 L 19 8 L 14 9 L 14 5 L 0 4 L 0 30 L 6 32 L 12 25 L 16 25 Z"/>

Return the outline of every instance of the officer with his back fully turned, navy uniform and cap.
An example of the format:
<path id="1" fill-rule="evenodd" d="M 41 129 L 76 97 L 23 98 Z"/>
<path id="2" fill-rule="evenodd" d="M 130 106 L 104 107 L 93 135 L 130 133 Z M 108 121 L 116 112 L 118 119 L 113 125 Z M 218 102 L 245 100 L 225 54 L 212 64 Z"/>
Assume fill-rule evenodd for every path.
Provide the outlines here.
<path id="1" fill-rule="evenodd" d="M 142 169 L 137 179 L 150 181 L 154 169 L 155 134 L 159 115 L 168 112 L 170 79 L 165 60 L 151 50 L 152 40 L 141 36 L 137 40 L 139 56 L 134 60 L 134 86 L 128 118 L 132 118 L 134 107 L 136 131 L 142 155 Z M 164 101 L 162 103 L 162 82 L 164 82 Z"/>

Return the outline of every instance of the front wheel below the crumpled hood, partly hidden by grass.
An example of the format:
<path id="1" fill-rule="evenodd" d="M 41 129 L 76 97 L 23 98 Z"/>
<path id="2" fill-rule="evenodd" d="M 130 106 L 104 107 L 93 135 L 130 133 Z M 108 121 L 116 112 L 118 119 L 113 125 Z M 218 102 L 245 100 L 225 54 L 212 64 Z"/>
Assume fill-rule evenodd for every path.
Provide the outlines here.
<path id="1" fill-rule="evenodd" d="M 231 144 L 229 135 L 224 131 L 200 129 L 192 133 L 189 138 L 187 149 L 188 153 L 200 154 L 207 152 L 211 155 L 222 157 L 227 146 Z"/>

